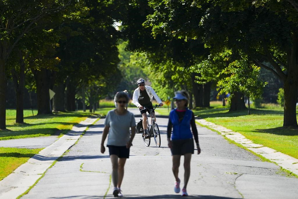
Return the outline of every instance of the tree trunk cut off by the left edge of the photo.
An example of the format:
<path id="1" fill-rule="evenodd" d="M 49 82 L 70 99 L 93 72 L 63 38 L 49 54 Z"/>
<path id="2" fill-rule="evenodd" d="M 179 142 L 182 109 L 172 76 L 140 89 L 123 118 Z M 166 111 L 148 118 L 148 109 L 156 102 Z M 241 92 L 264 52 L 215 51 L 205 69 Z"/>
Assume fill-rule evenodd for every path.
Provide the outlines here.
<path id="1" fill-rule="evenodd" d="M 1 55 L 1 52 L 0 52 L 0 55 Z M 3 58 L 3 55 L 1 55 L 0 57 L 0 129 L 6 129 L 6 87 L 7 87 L 7 79 L 5 75 L 5 59 Z"/>

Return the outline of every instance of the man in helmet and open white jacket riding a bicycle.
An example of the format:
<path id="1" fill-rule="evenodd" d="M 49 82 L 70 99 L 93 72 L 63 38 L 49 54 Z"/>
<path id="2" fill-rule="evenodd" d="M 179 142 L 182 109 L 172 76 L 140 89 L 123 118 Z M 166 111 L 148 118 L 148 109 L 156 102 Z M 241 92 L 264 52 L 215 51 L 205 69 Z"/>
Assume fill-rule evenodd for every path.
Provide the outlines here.
<path id="1" fill-rule="evenodd" d="M 140 78 L 136 83 L 139 85 L 136 90 L 134 90 L 134 95 L 132 97 L 132 103 L 136 105 L 142 114 L 143 117 L 143 128 L 144 128 L 144 137 L 148 138 L 149 130 L 147 129 L 147 109 L 144 110 L 144 107 L 147 107 L 148 109 L 153 109 L 152 106 L 152 98 L 154 96 L 157 103 L 159 103 L 160 106 L 163 106 L 162 101 L 159 99 L 159 97 L 156 95 L 155 91 L 150 86 L 145 86 L 145 80 Z M 153 116 L 155 118 L 155 112 L 153 110 Z M 151 118 L 152 119 L 152 118 Z"/>

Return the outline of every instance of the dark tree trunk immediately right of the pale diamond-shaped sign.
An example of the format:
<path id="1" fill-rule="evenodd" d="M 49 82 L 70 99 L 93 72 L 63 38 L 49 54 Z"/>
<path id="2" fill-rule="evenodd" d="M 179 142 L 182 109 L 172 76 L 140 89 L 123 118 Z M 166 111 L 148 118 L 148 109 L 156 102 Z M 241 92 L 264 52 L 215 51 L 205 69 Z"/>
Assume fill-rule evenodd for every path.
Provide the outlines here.
<path id="1" fill-rule="evenodd" d="M 65 86 L 64 84 L 54 85 L 53 91 L 55 95 L 53 97 L 53 111 L 61 111 L 65 112 L 64 108 L 64 92 Z"/>

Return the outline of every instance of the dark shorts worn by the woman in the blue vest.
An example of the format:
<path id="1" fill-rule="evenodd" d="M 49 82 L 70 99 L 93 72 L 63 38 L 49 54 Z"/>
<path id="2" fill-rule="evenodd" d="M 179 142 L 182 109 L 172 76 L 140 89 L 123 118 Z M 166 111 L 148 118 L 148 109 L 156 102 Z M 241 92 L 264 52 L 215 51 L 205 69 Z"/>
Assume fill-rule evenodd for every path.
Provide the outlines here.
<path id="1" fill-rule="evenodd" d="M 187 153 L 193 154 L 194 152 L 195 146 L 193 144 L 193 138 L 186 140 L 172 140 L 172 144 L 172 155 L 184 155 Z"/>

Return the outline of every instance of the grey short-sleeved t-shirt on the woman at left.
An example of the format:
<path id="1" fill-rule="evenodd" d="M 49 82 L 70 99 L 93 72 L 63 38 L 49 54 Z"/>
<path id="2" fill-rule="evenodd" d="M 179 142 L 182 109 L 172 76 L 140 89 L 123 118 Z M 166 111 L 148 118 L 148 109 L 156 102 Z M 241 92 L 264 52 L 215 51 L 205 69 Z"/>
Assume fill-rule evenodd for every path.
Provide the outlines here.
<path id="1" fill-rule="evenodd" d="M 105 126 L 110 127 L 107 145 L 125 146 L 130 139 L 130 127 L 135 127 L 136 121 L 132 112 L 117 115 L 111 110 L 105 118 Z"/>

